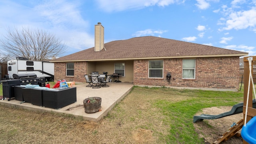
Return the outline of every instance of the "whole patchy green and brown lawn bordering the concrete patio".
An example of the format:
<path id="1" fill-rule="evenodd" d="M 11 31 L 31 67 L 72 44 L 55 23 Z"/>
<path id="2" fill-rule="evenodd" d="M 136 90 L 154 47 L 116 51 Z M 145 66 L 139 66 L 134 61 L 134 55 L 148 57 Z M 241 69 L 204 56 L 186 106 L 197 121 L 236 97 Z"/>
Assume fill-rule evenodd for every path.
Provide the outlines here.
<path id="1" fill-rule="evenodd" d="M 52 87 L 54 83 L 50 83 L 50 85 Z M 0 88 L 0 95 L 2 95 L 2 87 Z M 49 137 L 49 140 L 40 138 L 39 134 L 33 137 L 35 142 L 44 139 L 46 143 L 65 143 L 76 137 L 88 139 L 97 137 L 94 141 L 95 143 L 204 144 L 204 140 L 199 138 L 195 132 L 193 116 L 203 108 L 233 106 L 242 101 L 243 87 L 238 92 L 220 92 L 134 86 L 132 91 L 103 120 L 96 124 L 91 124 L 93 127 L 92 132 L 88 132 L 90 129 L 87 127 L 84 132 L 79 132 L 81 126 L 88 123 L 79 118 L 70 118 L 70 116 L 52 114 L 50 112 L 41 113 L 12 108 L 12 110 L 6 111 L 6 114 L 5 111 L 2 112 L 4 118 L 1 119 L 0 117 L 0 120 L 6 120 L 6 123 L 0 124 L 0 127 L 6 126 L 6 128 L 0 128 L 2 131 L 0 132 L 2 136 L 0 140 L 4 140 L 4 143 L 9 142 L 6 139 L 11 140 L 11 143 L 31 142 L 22 137 L 29 137 L 34 132 L 40 133 L 44 130 L 44 127 L 47 127 L 50 128 L 50 132 L 46 131 L 44 134 Z M 0 106 L 0 108 L 6 108 L 6 106 Z M 22 112 L 24 113 L 22 114 Z M 38 118 L 36 115 L 38 115 Z M 47 119 L 44 118 L 45 116 L 47 116 Z M 16 120 L 15 117 L 22 120 L 25 119 L 26 127 L 22 127 L 22 122 Z M 70 131 L 68 135 L 60 130 L 60 126 L 56 127 L 54 125 L 59 120 L 63 120 L 65 131 Z M 10 126 L 7 125 L 9 121 L 14 121 L 15 126 L 13 128 L 12 124 Z M 73 124 L 79 126 L 79 130 L 76 130 L 76 126 Z M 23 129 L 27 131 L 23 132 Z M 139 132 L 142 130 L 147 132 L 146 130 L 148 130 L 149 133 L 152 133 L 152 139 L 148 137 L 148 141 L 145 139 L 138 142 L 134 137 L 131 138 L 134 132 L 138 134 L 138 130 L 140 130 Z M 19 131 L 22 131 L 22 133 Z M 52 136 L 51 134 L 54 132 L 58 132 L 58 136 L 62 136 L 62 138 L 58 139 L 58 137 Z M 16 137 L 13 138 L 12 134 Z M 144 137 L 141 137 L 141 139 Z M 74 139 L 74 141 L 75 143 L 82 142 L 78 139 Z"/>

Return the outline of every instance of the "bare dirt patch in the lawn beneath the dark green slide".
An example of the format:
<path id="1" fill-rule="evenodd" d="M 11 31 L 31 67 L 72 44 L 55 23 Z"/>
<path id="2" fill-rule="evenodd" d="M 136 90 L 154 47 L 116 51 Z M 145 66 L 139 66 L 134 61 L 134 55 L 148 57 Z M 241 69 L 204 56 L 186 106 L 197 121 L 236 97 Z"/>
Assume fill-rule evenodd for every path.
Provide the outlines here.
<path id="1" fill-rule="evenodd" d="M 205 108 L 202 112 L 198 112 L 196 115 L 200 114 L 221 114 L 224 112 L 230 111 L 232 106 L 220 106 L 220 107 L 212 107 L 212 108 Z M 200 137 L 204 138 L 206 144 L 212 144 L 220 136 L 222 136 L 225 132 L 227 132 L 231 125 L 235 122 L 239 122 L 243 118 L 243 114 L 234 114 L 232 116 L 226 116 L 224 118 L 214 119 L 214 120 L 203 120 L 194 123 L 196 128 L 196 132 L 199 134 Z M 241 132 L 241 130 L 239 130 Z M 242 144 L 243 139 L 241 137 L 233 136 L 226 142 L 222 144 Z"/>

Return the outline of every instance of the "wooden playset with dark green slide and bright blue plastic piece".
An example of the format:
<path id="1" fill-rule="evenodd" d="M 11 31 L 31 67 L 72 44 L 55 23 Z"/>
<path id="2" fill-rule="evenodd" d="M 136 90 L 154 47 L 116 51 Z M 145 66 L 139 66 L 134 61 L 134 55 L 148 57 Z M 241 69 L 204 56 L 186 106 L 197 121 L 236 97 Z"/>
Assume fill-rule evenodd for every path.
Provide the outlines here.
<path id="1" fill-rule="evenodd" d="M 230 116 L 233 114 L 244 114 L 244 118 L 237 122 L 232 128 L 224 133 L 213 144 L 220 144 L 231 138 L 232 136 L 241 136 L 243 138 L 243 144 L 256 144 L 256 108 L 255 100 L 252 99 L 252 90 L 255 94 L 254 82 L 252 78 L 252 67 L 256 64 L 256 56 L 244 57 L 244 102 L 233 106 L 230 112 L 225 112 L 219 115 L 206 115 L 194 116 L 193 122 L 203 119 L 216 119 L 224 116 Z M 241 110 L 242 108 L 242 110 Z M 255 116 L 255 117 L 254 117 Z M 246 125 L 247 124 L 247 125 Z M 238 132 L 242 128 L 241 134 Z"/>

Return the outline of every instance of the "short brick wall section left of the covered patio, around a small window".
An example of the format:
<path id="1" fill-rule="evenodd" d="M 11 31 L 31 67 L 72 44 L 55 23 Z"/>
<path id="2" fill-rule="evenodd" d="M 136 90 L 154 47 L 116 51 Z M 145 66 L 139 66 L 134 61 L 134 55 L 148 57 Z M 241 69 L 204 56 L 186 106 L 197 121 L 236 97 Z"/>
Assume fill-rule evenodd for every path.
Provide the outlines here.
<path id="1" fill-rule="evenodd" d="M 67 82 L 86 82 L 87 62 L 74 62 L 74 76 L 66 76 L 66 63 L 54 62 L 54 81 L 65 79 Z"/>

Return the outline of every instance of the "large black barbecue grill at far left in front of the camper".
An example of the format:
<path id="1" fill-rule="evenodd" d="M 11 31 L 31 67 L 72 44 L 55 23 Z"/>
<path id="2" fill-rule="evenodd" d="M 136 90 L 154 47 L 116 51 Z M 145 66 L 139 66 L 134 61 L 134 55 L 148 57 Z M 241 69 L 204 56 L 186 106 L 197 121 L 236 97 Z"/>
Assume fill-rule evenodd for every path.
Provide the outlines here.
<path id="1" fill-rule="evenodd" d="M 45 78 L 37 78 L 36 74 L 13 74 L 14 79 L 2 80 L 3 86 L 3 98 L 14 98 L 14 86 L 26 85 L 26 84 L 38 84 L 39 86 L 45 86 Z"/>

